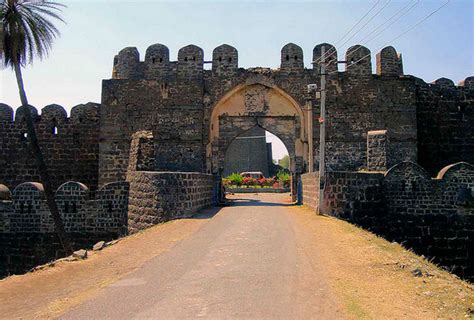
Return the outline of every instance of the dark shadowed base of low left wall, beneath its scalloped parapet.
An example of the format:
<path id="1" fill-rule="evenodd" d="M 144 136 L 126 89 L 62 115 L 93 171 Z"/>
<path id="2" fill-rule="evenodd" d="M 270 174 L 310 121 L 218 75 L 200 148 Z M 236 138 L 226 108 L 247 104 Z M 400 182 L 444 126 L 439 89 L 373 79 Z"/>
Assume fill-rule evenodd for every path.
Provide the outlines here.
<path id="1" fill-rule="evenodd" d="M 90 249 L 99 241 L 110 241 L 121 235 L 114 232 L 68 234 L 74 250 Z M 0 233 L 0 278 L 28 272 L 38 265 L 64 256 L 56 233 Z"/>

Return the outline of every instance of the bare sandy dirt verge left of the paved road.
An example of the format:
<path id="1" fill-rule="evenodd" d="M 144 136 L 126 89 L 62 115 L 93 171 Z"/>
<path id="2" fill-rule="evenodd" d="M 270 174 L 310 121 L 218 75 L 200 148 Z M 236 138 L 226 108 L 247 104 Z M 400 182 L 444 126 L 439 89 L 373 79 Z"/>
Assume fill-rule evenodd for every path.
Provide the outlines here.
<path id="1" fill-rule="evenodd" d="M 59 262 L 32 273 L 0 281 L 1 319 L 49 319 L 92 299 L 100 288 L 116 282 L 170 249 L 206 219 L 182 219 L 123 238 L 86 260 Z"/>

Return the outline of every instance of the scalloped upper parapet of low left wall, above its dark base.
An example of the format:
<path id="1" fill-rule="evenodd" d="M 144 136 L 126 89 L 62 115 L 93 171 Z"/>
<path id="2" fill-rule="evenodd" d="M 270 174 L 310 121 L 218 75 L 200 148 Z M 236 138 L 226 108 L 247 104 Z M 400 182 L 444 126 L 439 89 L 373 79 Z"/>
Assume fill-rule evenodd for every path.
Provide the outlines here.
<path id="1" fill-rule="evenodd" d="M 102 186 L 93 196 L 80 182 L 62 184 L 55 192 L 55 200 L 66 232 L 125 234 L 128 189 L 128 182 L 114 182 Z M 41 183 L 24 182 L 11 194 L 0 185 L 0 232 L 51 233 L 54 230 Z"/>

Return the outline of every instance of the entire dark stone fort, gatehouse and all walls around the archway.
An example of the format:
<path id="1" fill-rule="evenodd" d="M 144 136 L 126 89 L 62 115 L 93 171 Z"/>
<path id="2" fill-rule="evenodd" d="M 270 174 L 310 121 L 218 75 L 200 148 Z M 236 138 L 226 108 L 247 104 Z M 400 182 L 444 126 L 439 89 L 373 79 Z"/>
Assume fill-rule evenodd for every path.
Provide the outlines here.
<path id="1" fill-rule="evenodd" d="M 472 189 L 470 167 L 454 166 L 435 180 L 428 173 L 412 179 L 416 170 L 406 165 L 396 167 L 403 174 L 395 168 L 385 176 L 381 172 L 407 161 L 420 162 L 431 174 L 451 162 L 474 162 L 474 78 L 454 86 L 444 78 L 427 84 L 405 76 L 401 55 L 392 47 L 377 54 L 376 74 L 370 51 L 362 46 L 347 50 L 344 60 L 349 65 L 338 72 L 338 53 L 330 44 L 315 46 L 313 60 L 320 57 L 323 45 L 332 50 L 326 119 L 330 191 L 324 199 L 326 207 L 332 208 L 330 214 L 407 241 L 445 265 L 460 266 L 459 274 L 472 274 L 467 262 L 473 263 L 465 255 L 467 249 L 462 249 L 466 244 L 473 247 L 472 236 L 466 236 L 472 235 L 472 206 L 470 200 L 461 203 L 453 198 L 465 193 L 470 199 L 460 191 Z M 149 47 L 144 61 L 136 48 L 125 48 L 114 59 L 112 79 L 103 81 L 102 105 L 74 107 L 69 118 L 57 105 L 43 108 L 41 115 L 32 107 L 53 185 L 59 188 L 57 201 L 77 243 L 94 240 L 94 235 L 115 237 L 126 232 L 127 222 L 134 232 L 215 203 L 219 192 L 212 177 L 220 172 L 208 166 L 211 116 L 226 93 L 243 84 L 251 83 L 253 89 L 280 88 L 302 113 L 311 102 L 314 166 L 318 167 L 320 101 L 308 97 L 306 87 L 320 83 L 319 68 L 318 64 L 304 67 L 299 46 L 290 43 L 282 48 L 278 69 L 239 68 L 238 52 L 228 45 L 213 51 L 211 70 L 203 65 L 204 52 L 194 45 L 181 48 L 177 61 L 170 61 L 164 45 Z M 259 92 L 244 94 L 248 100 L 260 98 Z M 292 117 L 277 123 L 266 114 L 266 101 L 262 103 L 261 110 L 248 114 L 222 114 L 217 123 L 224 138 L 230 141 L 243 126 L 250 129 L 249 124 L 259 121 L 275 129 L 294 128 L 294 132 L 274 132 L 284 133 L 280 138 L 285 143 L 295 138 L 302 123 Z M 0 257 L 6 257 L 2 261 L 7 266 L 28 255 L 37 257 L 40 251 L 37 255 L 34 250 L 39 249 L 29 249 L 38 248 L 35 243 L 51 244 L 46 246 L 53 248 L 45 254 L 48 258 L 59 252 L 40 185 L 22 184 L 39 180 L 25 132 L 22 108 L 14 116 L 12 108 L 1 104 L 0 183 L 5 186 L 0 186 L 0 193 L 14 190 L 11 200 L 6 197 L 0 202 L 1 243 L 6 244 Z M 294 153 L 297 146 L 288 145 Z M 297 159 L 296 173 L 307 171 L 306 161 Z M 457 175 L 461 178 L 449 178 L 460 167 L 464 168 Z M 313 178 L 302 178 L 303 201 L 317 194 Z M 70 180 L 84 182 L 90 192 L 79 183 L 63 185 Z M 130 203 L 128 185 L 122 185 L 125 180 L 130 182 Z M 122 182 L 109 185 L 114 181 Z M 312 200 L 312 206 L 318 201 Z M 147 207 L 151 209 L 142 210 Z M 389 212 L 388 218 L 381 212 Z M 390 226 L 387 219 L 393 222 Z M 18 265 L 31 264 L 28 261 Z"/>

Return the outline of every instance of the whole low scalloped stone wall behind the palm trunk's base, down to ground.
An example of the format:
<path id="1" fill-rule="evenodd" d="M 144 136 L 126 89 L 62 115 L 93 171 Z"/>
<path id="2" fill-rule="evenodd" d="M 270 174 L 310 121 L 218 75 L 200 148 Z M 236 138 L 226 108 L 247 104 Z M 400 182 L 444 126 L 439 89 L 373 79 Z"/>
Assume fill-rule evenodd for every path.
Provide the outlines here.
<path id="1" fill-rule="evenodd" d="M 90 192 L 84 184 L 66 182 L 55 193 L 65 230 L 75 249 L 116 239 L 127 233 L 127 182 Z M 43 186 L 0 185 L 0 276 L 22 273 L 65 255 L 49 212 Z"/>

